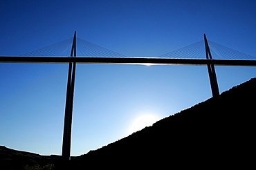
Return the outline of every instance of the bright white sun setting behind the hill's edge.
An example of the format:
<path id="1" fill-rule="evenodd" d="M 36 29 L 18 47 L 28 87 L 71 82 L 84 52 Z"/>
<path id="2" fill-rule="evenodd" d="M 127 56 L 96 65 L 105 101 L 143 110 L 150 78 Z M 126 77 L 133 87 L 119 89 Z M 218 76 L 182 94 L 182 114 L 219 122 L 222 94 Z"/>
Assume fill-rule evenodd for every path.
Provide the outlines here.
<path id="1" fill-rule="evenodd" d="M 129 128 L 129 135 L 136 131 L 140 131 L 141 129 L 144 129 L 146 126 L 152 126 L 152 124 L 154 124 L 158 120 L 160 120 L 160 117 L 157 117 L 156 115 L 151 115 L 151 114 L 140 115 L 131 124 Z"/>

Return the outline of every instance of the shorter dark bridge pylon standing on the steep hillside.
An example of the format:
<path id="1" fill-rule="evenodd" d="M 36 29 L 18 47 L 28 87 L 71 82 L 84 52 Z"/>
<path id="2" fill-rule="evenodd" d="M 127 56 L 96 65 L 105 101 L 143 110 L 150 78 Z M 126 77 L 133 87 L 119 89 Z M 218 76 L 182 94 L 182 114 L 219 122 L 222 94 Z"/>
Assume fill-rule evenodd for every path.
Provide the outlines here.
<path id="1" fill-rule="evenodd" d="M 205 53 L 206 53 L 206 59 L 212 59 L 212 55 L 210 53 L 210 48 L 208 41 L 206 39 L 206 35 L 203 34 L 204 41 L 205 41 Z M 215 68 L 213 64 L 207 64 L 209 78 L 210 78 L 210 86 L 212 88 L 212 97 L 219 95 L 219 86 L 217 82 L 217 77 L 215 73 Z"/>

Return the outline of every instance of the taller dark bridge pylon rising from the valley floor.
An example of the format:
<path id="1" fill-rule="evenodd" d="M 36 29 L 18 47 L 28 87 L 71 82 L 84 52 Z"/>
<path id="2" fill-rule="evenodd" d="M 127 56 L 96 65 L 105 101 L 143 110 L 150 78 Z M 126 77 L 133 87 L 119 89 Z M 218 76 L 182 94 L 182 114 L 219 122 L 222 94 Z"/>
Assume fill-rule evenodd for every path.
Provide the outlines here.
<path id="1" fill-rule="evenodd" d="M 76 57 L 76 32 L 73 37 L 73 45 L 71 49 L 71 57 Z M 75 68 L 76 63 L 69 63 L 68 66 L 68 82 L 66 87 L 66 108 L 64 118 L 64 131 L 62 141 L 62 158 L 70 160 L 71 155 L 71 131 L 73 117 L 73 99 L 75 90 Z"/>

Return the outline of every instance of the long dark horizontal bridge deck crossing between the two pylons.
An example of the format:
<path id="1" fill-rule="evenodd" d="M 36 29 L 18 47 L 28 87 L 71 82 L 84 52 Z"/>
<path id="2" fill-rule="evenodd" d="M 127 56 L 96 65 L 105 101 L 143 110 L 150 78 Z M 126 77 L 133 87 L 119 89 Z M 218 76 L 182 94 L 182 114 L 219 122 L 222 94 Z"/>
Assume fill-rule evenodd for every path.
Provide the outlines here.
<path id="1" fill-rule="evenodd" d="M 0 63 L 41 63 L 41 64 L 140 64 L 140 65 L 207 65 L 215 66 L 256 66 L 256 59 L 178 59 L 161 57 L 26 57 L 0 56 Z"/>

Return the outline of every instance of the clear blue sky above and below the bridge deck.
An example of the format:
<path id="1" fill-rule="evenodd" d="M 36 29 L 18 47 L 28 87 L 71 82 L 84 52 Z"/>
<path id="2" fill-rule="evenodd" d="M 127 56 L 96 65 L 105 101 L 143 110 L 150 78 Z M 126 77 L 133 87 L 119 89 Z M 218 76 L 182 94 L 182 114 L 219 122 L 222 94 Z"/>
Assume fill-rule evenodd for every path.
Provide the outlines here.
<path id="1" fill-rule="evenodd" d="M 255 1 L 0 1 L 0 55 L 76 30 L 126 56 L 158 57 L 205 33 L 255 57 L 255 9 Z M 256 76 L 255 67 L 216 71 L 220 92 Z M 68 64 L 0 64 L 0 145 L 61 154 L 67 72 Z M 206 66 L 77 64 L 71 155 L 124 138 L 142 115 L 167 117 L 211 96 Z"/>

